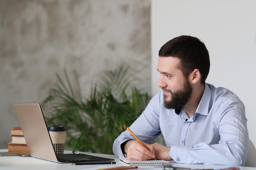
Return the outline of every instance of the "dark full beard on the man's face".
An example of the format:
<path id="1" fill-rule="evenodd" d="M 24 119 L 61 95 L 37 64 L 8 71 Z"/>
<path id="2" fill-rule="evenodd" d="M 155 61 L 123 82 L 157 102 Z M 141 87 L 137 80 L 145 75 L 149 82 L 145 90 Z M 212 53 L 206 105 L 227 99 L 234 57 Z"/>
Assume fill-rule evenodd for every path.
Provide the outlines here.
<path id="1" fill-rule="evenodd" d="M 166 88 L 162 89 L 164 91 L 168 91 L 169 93 L 171 93 L 170 101 L 166 101 L 167 96 L 164 95 L 164 107 L 167 109 L 181 108 L 187 102 L 189 102 L 189 99 L 192 94 L 192 86 L 189 83 L 188 79 L 186 79 L 186 81 L 184 82 L 182 90 L 172 92 L 171 90 L 168 90 Z"/>

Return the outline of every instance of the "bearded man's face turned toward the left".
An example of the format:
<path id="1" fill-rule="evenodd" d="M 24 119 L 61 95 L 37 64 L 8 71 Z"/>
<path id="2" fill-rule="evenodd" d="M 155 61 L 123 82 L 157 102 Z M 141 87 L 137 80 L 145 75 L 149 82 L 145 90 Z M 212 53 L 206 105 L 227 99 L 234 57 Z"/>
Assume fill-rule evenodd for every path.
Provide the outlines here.
<path id="1" fill-rule="evenodd" d="M 164 106 L 168 109 L 181 108 L 190 99 L 192 86 L 180 68 L 177 57 L 159 57 L 157 70 L 161 74 L 158 86 L 164 91 Z"/>

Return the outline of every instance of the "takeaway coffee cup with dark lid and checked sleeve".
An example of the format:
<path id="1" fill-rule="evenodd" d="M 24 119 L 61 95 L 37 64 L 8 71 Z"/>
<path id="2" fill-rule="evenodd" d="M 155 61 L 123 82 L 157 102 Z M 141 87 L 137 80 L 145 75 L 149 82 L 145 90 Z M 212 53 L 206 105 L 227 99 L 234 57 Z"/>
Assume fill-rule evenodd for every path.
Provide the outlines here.
<path id="1" fill-rule="evenodd" d="M 55 153 L 57 155 L 63 154 L 66 141 L 66 128 L 64 126 L 49 126 L 48 131 Z"/>

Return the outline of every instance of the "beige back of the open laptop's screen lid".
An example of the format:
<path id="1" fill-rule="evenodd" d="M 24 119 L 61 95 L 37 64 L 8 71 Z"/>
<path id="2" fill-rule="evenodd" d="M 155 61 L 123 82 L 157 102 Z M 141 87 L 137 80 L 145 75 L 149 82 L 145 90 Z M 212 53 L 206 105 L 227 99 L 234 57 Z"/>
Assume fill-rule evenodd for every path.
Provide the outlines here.
<path id="1" fill-rule="evenodd" d="M 39 103 L 14 104 L 30 155 L 58 161 Z"/>

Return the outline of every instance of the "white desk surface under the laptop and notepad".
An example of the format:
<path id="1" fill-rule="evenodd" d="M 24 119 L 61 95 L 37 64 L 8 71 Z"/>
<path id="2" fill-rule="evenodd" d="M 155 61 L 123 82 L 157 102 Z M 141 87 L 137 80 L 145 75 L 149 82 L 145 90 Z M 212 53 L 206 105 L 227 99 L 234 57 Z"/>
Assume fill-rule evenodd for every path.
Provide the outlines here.
<path id="1" fill-rule="evenodd" d="M 0 152 L 6 152 L 7 149 L 1 149 Z M 66 151 L 65 153 L 71 153 Z M 115 159 L 116 164 L 113 165 L 72 165 L 72 163 L 55 163 L 51 161 L 46 161 L 42 159 L 37 159 L 34 157 L 19 157 L 19 156 L 0 156 L 0 170 L 83 170 L 88 168 L 96 168 L 99 166 L 126 166 L 125 163 L 119 161 L 115 155 L 106 154 L 94 154 L 83 152 L 88 155 L 106 157 L 110 159 Z M 214 158 L 213 158 L 214 159 Z M 184 167 L 191 169 L 221 169 L 228 168 L 231 166 L 211 166 L 211 165 L 195 165 L 195 164 L 180 164 L 173 163 L 174 167 Z M 162 170 L 162 167 L 154 166 L 138 166 L 137 170 Z M 251 167 L 240 167 L 240 170 L 256 170 L 256 168 Z"/>

